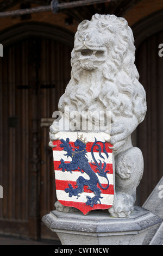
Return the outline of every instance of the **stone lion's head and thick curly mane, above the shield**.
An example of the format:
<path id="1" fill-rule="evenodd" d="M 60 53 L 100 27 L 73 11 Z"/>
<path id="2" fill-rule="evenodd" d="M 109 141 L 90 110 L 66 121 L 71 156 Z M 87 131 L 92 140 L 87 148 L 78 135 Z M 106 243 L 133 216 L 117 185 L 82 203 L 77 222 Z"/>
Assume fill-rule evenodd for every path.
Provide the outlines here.
<path id="1" fill-rule="evenodd" d="M 93 54 L 85 58 L 87 49 Z M 106 111 L 116 116 L 136 116 L 139 123 L 146 113 L 146 94 L 135 62 L 133 33 L 125 19 L 115 15 L 94 15 L 83 21 L 75 35 L 71 53 L 71 80 L 59 101 L 59 110 Z"/>

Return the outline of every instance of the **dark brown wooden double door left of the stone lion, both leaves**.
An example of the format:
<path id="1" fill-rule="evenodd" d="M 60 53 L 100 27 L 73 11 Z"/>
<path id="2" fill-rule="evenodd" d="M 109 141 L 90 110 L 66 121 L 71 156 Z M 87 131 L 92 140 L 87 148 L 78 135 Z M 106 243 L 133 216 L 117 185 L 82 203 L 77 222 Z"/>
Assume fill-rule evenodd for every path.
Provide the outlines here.
<path id="1" fill-rule="evenodd" d="M 49 126 L 70 80 L 71 47 L 28 38 L 4 48 L 0 59 L 0 234 L 49 238 L 41 218 L 54 209 Z M 54 235 L 53 235 L 54 238 Z"/>

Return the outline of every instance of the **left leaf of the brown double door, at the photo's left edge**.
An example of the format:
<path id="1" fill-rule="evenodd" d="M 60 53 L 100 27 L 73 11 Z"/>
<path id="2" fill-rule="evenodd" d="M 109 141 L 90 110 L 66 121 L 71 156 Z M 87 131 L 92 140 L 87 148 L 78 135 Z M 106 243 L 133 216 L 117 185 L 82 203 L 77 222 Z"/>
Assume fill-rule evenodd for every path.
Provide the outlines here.
<path id="1" fill-rule="evenodd" d="M 0 73 L 0 233 L 28 236 L 28 42 L 4 48 Z"/>

